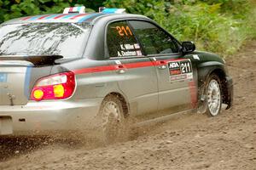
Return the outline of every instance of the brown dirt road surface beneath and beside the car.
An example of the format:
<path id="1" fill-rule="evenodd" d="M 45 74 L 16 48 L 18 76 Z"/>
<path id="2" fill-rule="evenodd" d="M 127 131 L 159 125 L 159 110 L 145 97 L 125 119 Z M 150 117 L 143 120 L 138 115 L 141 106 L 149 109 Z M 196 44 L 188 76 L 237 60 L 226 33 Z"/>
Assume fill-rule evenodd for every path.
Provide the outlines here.
<path id="1" fill-rule="evenodd" d="M 0 169 L 256 169 L 256 42 L 226 59 L 234 106 L 189 114 L 108 146 L 0 139 Z"/>

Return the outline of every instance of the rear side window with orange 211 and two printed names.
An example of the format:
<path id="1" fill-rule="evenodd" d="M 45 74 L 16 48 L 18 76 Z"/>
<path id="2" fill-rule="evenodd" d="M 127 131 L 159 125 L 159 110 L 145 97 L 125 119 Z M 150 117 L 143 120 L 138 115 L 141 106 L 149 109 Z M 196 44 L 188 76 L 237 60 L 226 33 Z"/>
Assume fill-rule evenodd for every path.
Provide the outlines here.
<path id="1" fill-rule="evenodd" d="M 126 21 L 108 25 L 108 53 L 110 57 L 140 56 L 142 50 Z"/>

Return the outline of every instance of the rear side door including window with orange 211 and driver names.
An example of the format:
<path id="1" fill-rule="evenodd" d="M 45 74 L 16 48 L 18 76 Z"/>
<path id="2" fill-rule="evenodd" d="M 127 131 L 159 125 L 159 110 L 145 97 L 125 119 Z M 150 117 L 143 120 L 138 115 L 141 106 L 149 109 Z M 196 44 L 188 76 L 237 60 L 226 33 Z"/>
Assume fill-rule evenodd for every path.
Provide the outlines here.
<path id="1" fill-rule="evenodd" d="M 158 84 L 154 63 L 143 50 L 125 20 L 107 28 L 108 64 L 115 67 L 113 79 L 125 94 L 131 114 L 145 115 L 158 110 Z"/>

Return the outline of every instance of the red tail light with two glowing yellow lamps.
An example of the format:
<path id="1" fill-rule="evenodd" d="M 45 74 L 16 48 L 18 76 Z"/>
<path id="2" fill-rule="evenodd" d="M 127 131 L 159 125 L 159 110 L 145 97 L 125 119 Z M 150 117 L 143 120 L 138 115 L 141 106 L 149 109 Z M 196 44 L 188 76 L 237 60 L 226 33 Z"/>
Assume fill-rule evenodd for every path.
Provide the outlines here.
<path id="1" fill-rule="evenodd" d="M 43 99 L 67 99 L 75 89 L 75 76 L 73 72 L 43 77 L 38 80 L 32 89 L 31 99 L 40 101 Z"/>

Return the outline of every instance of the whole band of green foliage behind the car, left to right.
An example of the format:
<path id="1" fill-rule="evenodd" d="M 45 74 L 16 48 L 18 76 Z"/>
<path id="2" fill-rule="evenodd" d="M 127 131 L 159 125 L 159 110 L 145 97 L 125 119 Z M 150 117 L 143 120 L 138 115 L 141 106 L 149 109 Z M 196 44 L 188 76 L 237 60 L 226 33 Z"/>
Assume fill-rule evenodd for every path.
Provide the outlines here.
<path id="1" fill-rule="evenodd" d="M 126 8 L 156 20 L 180 41 L 192 40 L 197 48 L 233 54 L 248 37 L 256 37 L 255 4 L 249 0 L 0 0 L 0 23 L 13 18 L 61 13 L 84 5 L 97 11 L 102 3 Z"/>

